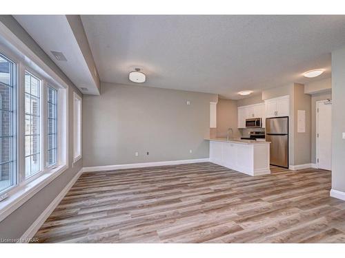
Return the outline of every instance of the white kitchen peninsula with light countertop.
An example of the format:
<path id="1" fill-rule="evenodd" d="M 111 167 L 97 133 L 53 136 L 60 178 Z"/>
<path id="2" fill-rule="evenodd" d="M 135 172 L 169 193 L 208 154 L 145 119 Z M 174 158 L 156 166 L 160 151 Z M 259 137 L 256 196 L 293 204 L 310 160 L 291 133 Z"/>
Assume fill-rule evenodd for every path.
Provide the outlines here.
<path id="1" fill-rule="evenodd" d="M 270 174 L 270 142 L 206 138 L 210 141 L 210 162 L 247 175 Z"/>

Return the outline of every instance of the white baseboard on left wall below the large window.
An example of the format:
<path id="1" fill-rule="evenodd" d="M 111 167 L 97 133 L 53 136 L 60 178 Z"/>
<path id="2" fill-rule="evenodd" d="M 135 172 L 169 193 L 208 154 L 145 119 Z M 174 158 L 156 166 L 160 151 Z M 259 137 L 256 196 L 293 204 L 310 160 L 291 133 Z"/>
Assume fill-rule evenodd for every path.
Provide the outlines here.
<path id="1" fill-rule="evenodd" d="M 32 223 L 30 228 L 26 230 L 26 232 L 21 236 L 21 240 L 25 239 L 26 241 L 30 241 L 32 237 L 37 233 L 39 228 L 43 225 L 43 223 L 48 219 L 49 215 L 55 210 L 57 205 L 61 202 L 63 197 L 65 197 L 66 193 L 70 191 L 70 188 L 77 182 L 78 178 L 80 177 L 81 173 L 83 173 L 83 169 L 81 169 L 77 175 L 75 175 L 72 180 L 65 186 L 65 188 L 55 197 L 55 199 L 48 205 L 48 207 L 39 215 L 39 217 Z"/>

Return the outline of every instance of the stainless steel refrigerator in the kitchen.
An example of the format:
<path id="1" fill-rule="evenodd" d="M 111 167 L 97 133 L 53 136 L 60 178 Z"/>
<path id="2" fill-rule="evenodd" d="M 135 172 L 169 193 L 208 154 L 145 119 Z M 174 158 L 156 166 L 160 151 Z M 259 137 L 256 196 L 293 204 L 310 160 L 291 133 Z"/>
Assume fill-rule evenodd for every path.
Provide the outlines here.
<path id="1" fill-rule="evenodd" d="M 270 164 L 288 168 L 288 117 L 266 118 L 266 141 L 270 142 Z"/>

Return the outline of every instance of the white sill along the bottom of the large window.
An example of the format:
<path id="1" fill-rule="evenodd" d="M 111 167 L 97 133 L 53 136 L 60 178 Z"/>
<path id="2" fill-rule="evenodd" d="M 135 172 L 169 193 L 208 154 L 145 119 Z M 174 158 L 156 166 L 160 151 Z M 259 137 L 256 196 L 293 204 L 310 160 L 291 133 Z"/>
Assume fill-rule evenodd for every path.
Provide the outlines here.
<path id="1" fill-rule="evenodd" d="M 0 202 L 0 222 L 43 189 L 44 186 L 52 182 L 52 180 L 55 180 L 55 178 L 61 175 L 63 171 L 66 171 L 66 169 L 68 169 L 67 165 L 61 165 L 41 174 L 31 182 L 24 182 L 25 184 L 14 186 L 14 188 L 8 192 L 9 197 Z"/>

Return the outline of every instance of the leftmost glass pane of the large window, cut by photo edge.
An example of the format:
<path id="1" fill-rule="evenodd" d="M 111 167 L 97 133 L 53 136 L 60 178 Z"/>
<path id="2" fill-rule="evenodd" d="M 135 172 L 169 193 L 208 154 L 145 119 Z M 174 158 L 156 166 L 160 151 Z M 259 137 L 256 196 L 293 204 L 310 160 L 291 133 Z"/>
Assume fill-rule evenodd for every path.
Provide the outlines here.
<path id="1" fill-rule="evenodd" d="M 16 184 L 15 70 L 15 63 L 0 54 L 0 192 Z"/>

